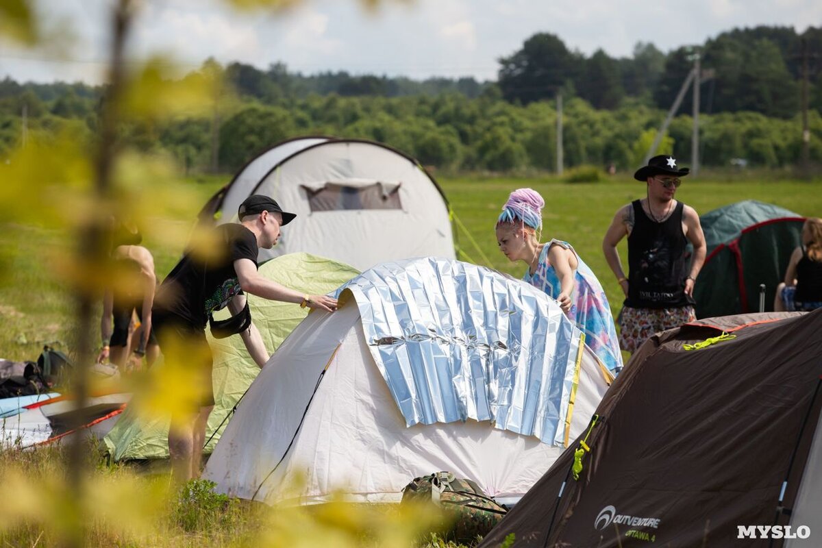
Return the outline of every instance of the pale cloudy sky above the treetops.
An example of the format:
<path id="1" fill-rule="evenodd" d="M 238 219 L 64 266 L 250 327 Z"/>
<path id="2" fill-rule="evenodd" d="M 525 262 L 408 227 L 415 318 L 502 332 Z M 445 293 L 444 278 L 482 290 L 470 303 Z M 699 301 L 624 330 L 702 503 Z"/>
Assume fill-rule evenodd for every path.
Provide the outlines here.
<path id="1" fill-rule="evenodd" d="M 72 30 L 71 47 L 22 50 L 0 38 L 0 77 L 101 81 L 113 0 L 37 0 L 51 28 Z M 168 53 L 183 70 L 208 57 L 291 71 L 474 76 L 496 79 L 497 59 L 537 32 L 589 55 L 630 56 L 638 41 L 663 51 L 734 27 L 822 25 L 819 0 L 305 0 L 289 12 L 238 14 L 217 0 L 137 0 L 133 58 Z"/>

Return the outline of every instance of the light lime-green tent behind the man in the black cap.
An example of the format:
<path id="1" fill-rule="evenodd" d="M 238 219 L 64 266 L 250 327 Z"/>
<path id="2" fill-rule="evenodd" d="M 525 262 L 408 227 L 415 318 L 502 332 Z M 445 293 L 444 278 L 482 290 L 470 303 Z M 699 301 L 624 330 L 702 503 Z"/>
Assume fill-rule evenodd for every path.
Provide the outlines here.
<path id="1" fill-rule="evenodd" d="M 359 274 L 349 265 L 307 253 L 279 256 L 261 265 L 259 272 L 267 279 L 312 295 L 333 292 Z M 307 309 L 289 302 L 267 301 L 254 295 L 248 297 L 248 302 L 254 325 L 260 330 L 269 352 L 274 352 L 307 315 Z M 260 369 L 239 336 L 218 339 L 211 337 L 207 330 L 206 334 L 214 352 L 215 407 L 205 431 L 205 439 L 210 438 L 205 453 L 210 454 L 228 424 L 227 417 L 234 404 L 245 394 Z M 146 422 L 138 419 L 129 407 L 104 438 L 104 443 L 115 461 L 168 458 L 168 435 L 168 419 Z"/>

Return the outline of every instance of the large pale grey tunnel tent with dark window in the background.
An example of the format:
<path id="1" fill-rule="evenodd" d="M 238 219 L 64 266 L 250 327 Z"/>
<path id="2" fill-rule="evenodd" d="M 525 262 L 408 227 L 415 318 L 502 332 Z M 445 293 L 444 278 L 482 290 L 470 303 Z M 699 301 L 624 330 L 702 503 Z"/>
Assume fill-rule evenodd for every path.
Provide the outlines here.
<path id="1" fill-rule="evenodd" d="M 367 140 L 307 137 L 253 159 L 201 212 L 236 219 L 252 194 L 297 214 L 260 260 L 306 251 L 367 269 L 386 260 L 454 258 L 448 203 L 419 163 Z"/>

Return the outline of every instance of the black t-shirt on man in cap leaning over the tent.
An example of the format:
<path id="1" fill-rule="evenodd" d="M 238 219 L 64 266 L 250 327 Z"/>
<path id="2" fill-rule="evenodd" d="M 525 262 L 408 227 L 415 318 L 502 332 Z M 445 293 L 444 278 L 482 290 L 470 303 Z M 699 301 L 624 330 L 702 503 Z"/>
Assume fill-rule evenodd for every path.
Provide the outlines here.
<path id="1" fill-rule="evenodd" d="M 154 314 L 175 315 L 192 327 L 205 329 L 210 312 L 223 308 L 241 292 L 234 261 L 248 259 L 256 266 L 256 237 L 242 224 L 221 224 L 215 230 L 223 252 L 208 259 L 187 253 L 160 285 Z"/>

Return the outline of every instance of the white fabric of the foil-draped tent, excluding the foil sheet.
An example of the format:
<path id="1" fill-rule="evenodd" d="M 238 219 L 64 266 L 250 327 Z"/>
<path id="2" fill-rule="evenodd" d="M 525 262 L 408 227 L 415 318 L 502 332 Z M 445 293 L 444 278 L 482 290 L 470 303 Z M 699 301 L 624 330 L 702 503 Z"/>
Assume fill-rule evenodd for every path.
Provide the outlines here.
<path id="1" fill-rule="evenodd" d="M 318 503 L 336 492 L 353 501 L 396 502 L 413 477 L 439 471 L 472 479 L 497 498 L 524 495 L 564 447 L 490 421 L 405 426 L 363 332 L 359 306 L 369 303 L 346 295 L 339 311 L 308 315 L 271 357 L 203 477 L 220 492 L 269 504 Z M 571 440 L 588 426 L 606 375 L 584 347 L 566 415 Z"/>

